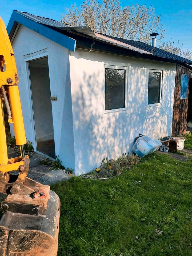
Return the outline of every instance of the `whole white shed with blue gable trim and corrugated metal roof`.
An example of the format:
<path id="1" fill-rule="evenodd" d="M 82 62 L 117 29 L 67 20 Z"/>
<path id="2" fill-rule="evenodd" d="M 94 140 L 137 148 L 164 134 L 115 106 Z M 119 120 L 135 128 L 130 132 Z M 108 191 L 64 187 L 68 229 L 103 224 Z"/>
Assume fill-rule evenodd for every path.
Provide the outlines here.
<path id="1" fill-rule="evenodd" d="M 139 133 L 171 135 L 176 64 L 192 62 L 20 11 L 7 31 L 35 151 L 80 175 L 131 152 Z"/>

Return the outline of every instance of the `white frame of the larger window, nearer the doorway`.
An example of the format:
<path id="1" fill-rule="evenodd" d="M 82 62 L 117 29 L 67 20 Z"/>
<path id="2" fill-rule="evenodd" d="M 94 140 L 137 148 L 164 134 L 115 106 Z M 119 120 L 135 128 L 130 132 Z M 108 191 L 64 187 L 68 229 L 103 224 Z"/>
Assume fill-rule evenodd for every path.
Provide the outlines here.
<path id="1" fill-rule="evenodd" d="M 121 69 L 125 70 L 125 107 L 119 108 L 119 109 L 109 109 L 105 110 L 105 69 Z M 125 66 L 116 66 L 116 65 L 104 65 L 104 77 L 103 77 L 103 92 L 104 92 L 104 102 L 103 102 L 103 110 L 104 114 L 111 113 L 111 112 L 119 112 L 119 111 L 125 111 L 127 110 L 127 88 L 128 88 L 128 67 Z"/>

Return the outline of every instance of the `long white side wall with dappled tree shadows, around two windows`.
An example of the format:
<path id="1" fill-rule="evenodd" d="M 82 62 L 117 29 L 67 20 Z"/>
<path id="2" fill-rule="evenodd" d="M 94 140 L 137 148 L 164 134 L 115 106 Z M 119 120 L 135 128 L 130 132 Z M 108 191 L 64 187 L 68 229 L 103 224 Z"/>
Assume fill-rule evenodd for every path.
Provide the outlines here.
<path id="1" fill-rule="evenodd" d="M 165 81 L 164 74 L 162 107 L 147 107 L 146 67 L 129 67 L 127 110 L 104 114 L 101 68 L 94 68 L 102 63 L 86 61 L 87 72 L 79 70 L 74 62 L 71 66 L 75 70 L 71 93 L 76 175 L 93 170 L 104 157 L 115 158 L 131 152 L 139 133 L 153 133 L 158 138 L 170 134 L 173 113 L 169 86 L 172 81 Z M 166 77 L 173 77 L 171 72 L 174 71 L 166 71 Z"/>

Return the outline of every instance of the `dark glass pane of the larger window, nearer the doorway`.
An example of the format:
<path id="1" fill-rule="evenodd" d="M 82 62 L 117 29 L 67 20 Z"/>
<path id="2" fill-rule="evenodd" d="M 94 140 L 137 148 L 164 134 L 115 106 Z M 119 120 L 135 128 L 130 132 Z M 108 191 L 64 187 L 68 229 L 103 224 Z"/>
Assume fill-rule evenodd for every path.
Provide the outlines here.
<path id="1" fill-rule="evenodd" d="M 125 107 L 125 70 L 105 69 L 105 110 Z"/>

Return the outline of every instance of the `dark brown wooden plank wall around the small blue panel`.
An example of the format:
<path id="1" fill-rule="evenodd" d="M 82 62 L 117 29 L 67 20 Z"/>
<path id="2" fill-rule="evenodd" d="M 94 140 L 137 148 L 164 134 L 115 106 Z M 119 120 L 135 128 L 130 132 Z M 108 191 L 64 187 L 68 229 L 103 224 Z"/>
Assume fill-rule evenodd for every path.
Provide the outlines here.
<path id="1" fill-rule="evenodd" d="M 189 81 L 187 99 L 180 99 L 181 92 L 181 74 L 189 74 L 192 77 L 192 70 L 187 67 L 177 65 L 175 75 L 175 95 L 173 106 L 173 123 L 172 135 L 183 135 L 187 130 L 187 109 L 188 109 L 188 95 L 189 95 Z"/>

